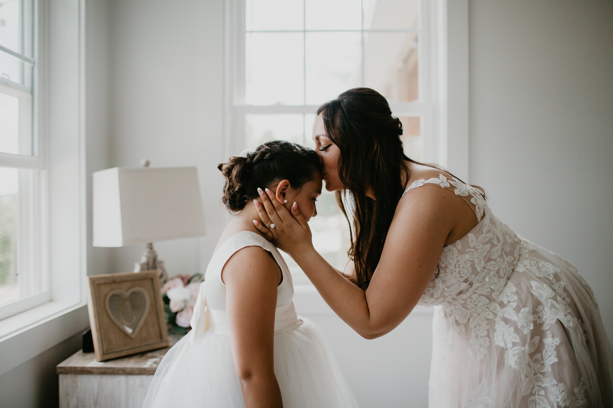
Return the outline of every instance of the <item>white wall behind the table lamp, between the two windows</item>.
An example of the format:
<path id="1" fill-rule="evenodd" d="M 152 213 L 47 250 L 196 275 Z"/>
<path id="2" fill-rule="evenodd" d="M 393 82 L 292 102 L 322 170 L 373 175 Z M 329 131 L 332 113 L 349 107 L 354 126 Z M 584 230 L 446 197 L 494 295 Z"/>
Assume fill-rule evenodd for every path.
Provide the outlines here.
<path id="1" fill-rule="evenodd" d="M 199 272 L 226 215 L 223 0 L 112 0 L 110 21 L 110 165 L 197 166 L 207 236 L 155 249 L 169 275 Z M 132 270 L 144 247 L 112 248 L 112 272 Z"/>

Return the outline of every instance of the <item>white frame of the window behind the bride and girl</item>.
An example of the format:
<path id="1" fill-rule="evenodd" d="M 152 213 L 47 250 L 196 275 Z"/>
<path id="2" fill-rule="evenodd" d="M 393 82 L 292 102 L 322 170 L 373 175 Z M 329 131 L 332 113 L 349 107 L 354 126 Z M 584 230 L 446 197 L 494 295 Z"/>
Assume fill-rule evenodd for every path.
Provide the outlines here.
<path id="1" fill-rule="evenodd" d="M 243 149 L 245 114 L 313 114 L 318 106 L 252 106 L 235 103 L 245 95 L 245 0 L 226 0 L 224 27 L 224 155 Z M 390 102 L 395 116 L 421 116 L 424 161 L 469 181 L 468 173 L 468 0 L 422 0 L 419 101 Z M 434 34 L 434 35 L 430 35 Z M 364 42 L 362 42 L 364 44 Z M 364 50 L 362 50 L 364 61 Z M 431 75 L 435 73 L 435 75 Z M 363 82 L 363 81 L 362 81 Z M 241 102 L 244 102 L 242 100 Z M 429 137 L 428 137 L 429 136 Z M 295 285 L 300 310 L 329 314 L 330 308 L 310 284 Z M 413 313 L 431 313 L 417 307 Z"/>

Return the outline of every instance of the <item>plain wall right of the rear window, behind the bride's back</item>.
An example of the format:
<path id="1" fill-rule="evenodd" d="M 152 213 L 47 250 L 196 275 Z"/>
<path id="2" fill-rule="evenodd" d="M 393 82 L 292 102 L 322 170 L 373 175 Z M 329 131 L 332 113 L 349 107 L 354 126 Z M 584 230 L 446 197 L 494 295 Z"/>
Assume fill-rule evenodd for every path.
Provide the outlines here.
<path id="1" fill-rule="evenodd" d="M 613 2 L 470 2 L 470 181 L 579 269 L 613 338 Z"/>

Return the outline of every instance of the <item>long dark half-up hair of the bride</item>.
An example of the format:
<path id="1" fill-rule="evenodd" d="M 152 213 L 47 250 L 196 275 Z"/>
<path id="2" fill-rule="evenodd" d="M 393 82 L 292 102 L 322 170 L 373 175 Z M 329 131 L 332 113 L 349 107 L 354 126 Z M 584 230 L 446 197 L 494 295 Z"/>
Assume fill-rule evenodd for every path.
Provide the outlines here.
<path id="1" fill-rule="evenodd" d="M 349 223 L 348 255 L 356 267 L 356 284 L 366 289 L 404 192 L 403 180 L 409 179 L 406 161 L 444 169 L 406 157 L 402 122 L 373 89 L 349 89 L 319 106 L 317 114 L 323 114 L 327 136 L 340 150 L 338 176 L 345 190 L 337 191 L 336 198 Z M 374 199 L 367 196 L 369 190 Z"/>

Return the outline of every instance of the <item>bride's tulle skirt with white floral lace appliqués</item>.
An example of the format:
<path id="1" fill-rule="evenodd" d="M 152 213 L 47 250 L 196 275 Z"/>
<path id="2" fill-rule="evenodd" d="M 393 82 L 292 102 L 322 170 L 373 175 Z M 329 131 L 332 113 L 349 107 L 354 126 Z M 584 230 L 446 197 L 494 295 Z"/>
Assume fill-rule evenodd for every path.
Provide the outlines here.
<path id="1" fill-rule="evenodd" d="M 430 408 L 613 406 L 613 351 L 592 289 L 569 262 L 522 245 L 502 294 L 468 321 L 436 306 Z"/>

